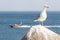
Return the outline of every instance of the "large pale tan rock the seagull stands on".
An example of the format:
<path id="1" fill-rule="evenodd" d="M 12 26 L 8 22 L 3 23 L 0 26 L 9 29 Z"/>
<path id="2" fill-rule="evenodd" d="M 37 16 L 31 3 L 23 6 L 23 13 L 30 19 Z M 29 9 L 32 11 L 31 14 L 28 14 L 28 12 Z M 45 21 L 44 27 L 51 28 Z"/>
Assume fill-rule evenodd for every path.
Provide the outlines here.
<path id="1" fill-rule="evenodd" d="M 35 25 L 29 29 L 21 40 L 60 40 L 60 35 L 45 26 Z"/>

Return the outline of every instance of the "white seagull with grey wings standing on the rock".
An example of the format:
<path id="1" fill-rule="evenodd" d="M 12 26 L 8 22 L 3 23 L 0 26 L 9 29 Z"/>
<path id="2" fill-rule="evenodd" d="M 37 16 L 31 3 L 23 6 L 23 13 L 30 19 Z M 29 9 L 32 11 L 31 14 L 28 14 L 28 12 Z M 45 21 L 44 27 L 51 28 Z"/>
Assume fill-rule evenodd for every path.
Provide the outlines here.
<path id="1" fill-rule="evenodd" d="M 47 18 L 47 14 L 46 14 L 47 8 L 49 8 L 49 7 L 48 7 L 47 4 L 45 4 L 44 7 L 43 7 L 43 11 L 41 12 L 41 14 L 40 14 L 36 19 L 34 19 L 35 22 L 36 22 L 36 21 L 40 21 L 40 22 L 42 23 L 42 25 L 43 25 L 43 22 L 44 22 L 44 21 L 46 20 L 46 18 Z"/>

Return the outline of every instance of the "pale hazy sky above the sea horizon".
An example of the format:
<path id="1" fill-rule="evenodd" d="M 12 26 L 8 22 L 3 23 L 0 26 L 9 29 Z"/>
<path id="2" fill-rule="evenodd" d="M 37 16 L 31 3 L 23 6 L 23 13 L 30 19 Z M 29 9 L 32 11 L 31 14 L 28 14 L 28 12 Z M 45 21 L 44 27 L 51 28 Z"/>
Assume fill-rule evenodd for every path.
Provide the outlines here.
<path id="1" fill-rule="evenodd" d="M 0 11 L 41 11 L 48 4 L 48 11 L 60 11 L 60 0 L 0 0 Z"/>

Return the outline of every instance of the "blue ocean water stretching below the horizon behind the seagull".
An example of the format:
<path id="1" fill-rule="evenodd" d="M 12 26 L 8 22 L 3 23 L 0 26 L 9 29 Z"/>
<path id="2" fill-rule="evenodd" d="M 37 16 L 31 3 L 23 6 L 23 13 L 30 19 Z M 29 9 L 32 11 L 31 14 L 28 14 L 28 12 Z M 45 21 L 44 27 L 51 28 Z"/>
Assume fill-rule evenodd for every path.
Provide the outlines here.
<path id="1" fill-rule="evenodd" d="M 41 12 L 0 12 L 0 40 L 21 40 L 29 28 L 11 28 L 9 24 L 37 25 L 33 20 Z M 44 25 L 60 25 L 60 12 L 48 11 Z M 60 34 L 60 27 L 48 27 L 48 29 Z"/>

